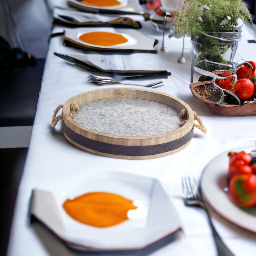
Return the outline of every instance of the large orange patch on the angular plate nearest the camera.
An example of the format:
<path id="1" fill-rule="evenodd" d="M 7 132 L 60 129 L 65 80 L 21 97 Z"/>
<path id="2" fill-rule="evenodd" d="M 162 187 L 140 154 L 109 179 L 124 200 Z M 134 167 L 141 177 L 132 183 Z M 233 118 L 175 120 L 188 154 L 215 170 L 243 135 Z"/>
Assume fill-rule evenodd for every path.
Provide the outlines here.
<path id="1" fill-rule="evenodd" d="M 98 228 L 124 222 L 128 220 L 128 210 L 137 209 L 131 200 L 106 192 L 90 192 L 67 199 L 63 208 L 75 220 Z"/>

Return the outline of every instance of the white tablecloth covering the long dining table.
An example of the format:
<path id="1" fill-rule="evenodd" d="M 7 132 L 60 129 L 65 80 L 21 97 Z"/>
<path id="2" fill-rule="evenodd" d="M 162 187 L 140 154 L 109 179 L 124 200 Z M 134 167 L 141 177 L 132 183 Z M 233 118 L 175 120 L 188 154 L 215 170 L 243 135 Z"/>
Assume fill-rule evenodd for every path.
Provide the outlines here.
<path id="1" fill-rule="evenodd" d="M 204 168 L 218 154 L 243 145 L 252 145 L 256 141 L 256 115 L 252 116 L 213 116 L 204 103 L 193 97 L 190 91 L 191 77 L 191 41 L 185 37 L 184 57 L 186 62 L 177 62 L 182 51 L 182 37 L 168 38 L 162 52 L 162 31 L 156 30 L 149 21 L 142 21 L 140 32 L 158 39 L 153 53 L 132 53 L 136 63 L 145 65 L 145 69 L 167 70 L 171 75 L 163 79 L 160 92 L 185 101 L 201 118 L 207 133 L 194 128 L 191 143 L 183 150 L 147 160 L 126 160 L 108 158 L 87 153 L 71 145 L 62 134 L 60 122 L 50 127 L 55 108 L 69 98 L 83 92 L 99 89 L 86 81 L 89 71 L 70 65 L 53 53 L 85 53 L 83 50 L 63 45 L 63 36 L 50 39 L 42 87 L 38 100 L 36 118 L 25 169 L 18 190 L 8 256 L 46 256 L 46 255 L 90 255 L 88 252 L 76 252 L 68 249 L 49 230 L 40 223 L 31 224 L 29 204 L 34 188 L 51 191 L 73 177 L 86 177 L 100 172 L 123 172 L 158 179 L 165 188 L 181 220 L 182 229 L 177 231 L 161 246 L 152 246 L 148 250 L 135 250 L 132 255 L 217 255 L 212 230 L 203 209 L 188 207 L 182 198 L 175 197 L 173 188 L 181 185 L 182 176 L 194 176 L 200 180 Z M 79 30 L 79 28 L 73 28 Z M 53 33 L 65 30 L 55 25 Z M 247 43 L 247 39 L 256 38 L 256 26 L 245 24 L 242 27 L 242 39 L 238 43 L 236 58 L 256 61 L 256 44 Z M 86 54 L 86 53 L 85 53 Z M 94 53 L 96 54 L 96 53 Z M 102 74 L 103 75 L 103 74 Z M 101 88 L 115 87 L 103 85 Z M 256 114 L 256 113 L 255 113 Z M 209 186 L 211 183 L 209 182 Z M 212 208 L 209 208 L 212 221 L 219 235 L 234 255 L 255 255 L 256 234 L 229 222 Z M 128 255 L 124 252 L 97 252 L 95 255 Z"/>

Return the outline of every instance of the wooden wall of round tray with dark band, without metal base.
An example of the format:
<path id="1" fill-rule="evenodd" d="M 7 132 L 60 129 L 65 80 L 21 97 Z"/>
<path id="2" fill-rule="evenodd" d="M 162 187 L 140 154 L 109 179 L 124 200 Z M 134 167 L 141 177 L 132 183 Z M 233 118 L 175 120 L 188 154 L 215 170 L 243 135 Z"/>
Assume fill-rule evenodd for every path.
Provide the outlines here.
<path id="1" fill-rule="evenodd" d="M 86 128 L 74 118 L 73 108 L 86 102 L 108 98 L 136 98 L 160 102 L 174 107 L 179 113 L 185 112 L 185 124 L 180 128 L 164 134 L 150 136 L 119 136 L 97 132 Z M 106 88 L 79 94 L 70 98 L 63 107 L 63 114 L 57 118 L 55 110 L 53 122 L 62 120 L 62 129 L 65 138 L 76 147 L 97 155 L 122 159 L 149 159 L 173 154 L 185 148 L 193 136 L 194 112 L 182 100 L 168 94 L 137 88 Z M 57 121 L 57 122 L 56 122 Z M 197 119 L 198 121 L 198 119 Z M 52 127 L 55 126 L 53 125 Z M 199 119 L 199 123 L 201 120 Z M 204 127 L 203 127 L 204 128 Z"/>

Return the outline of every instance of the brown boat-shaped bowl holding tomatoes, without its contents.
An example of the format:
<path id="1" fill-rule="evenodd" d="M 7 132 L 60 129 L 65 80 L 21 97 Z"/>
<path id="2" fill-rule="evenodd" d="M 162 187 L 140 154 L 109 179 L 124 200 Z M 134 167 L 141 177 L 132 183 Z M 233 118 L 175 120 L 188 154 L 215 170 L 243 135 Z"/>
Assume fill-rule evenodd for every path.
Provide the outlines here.
<path id="1" fill-rule="evenodd" d="M 246 116 L 256 114 L 256 102 L 246 103 L 241 106 L 231 104 L 218 104 L 216 102 L 208 100 L 207 98 L 203 98 L 196 92 L 195 88 L 197 86 L 211 83 L 212 81 L 193 82 L 190 84 L 190 90 L 194 97 L 202 100 L 211 114 L 215 116 Z"/>

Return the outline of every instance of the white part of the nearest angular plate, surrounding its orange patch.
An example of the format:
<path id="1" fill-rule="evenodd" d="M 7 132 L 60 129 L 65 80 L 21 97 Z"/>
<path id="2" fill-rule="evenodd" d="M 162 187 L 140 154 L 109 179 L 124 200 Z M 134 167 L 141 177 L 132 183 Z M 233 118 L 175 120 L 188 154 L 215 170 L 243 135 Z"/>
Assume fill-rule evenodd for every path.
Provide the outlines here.
<path id="1" fill-rule="evenodd" d="M 62 188 L 56 186 L 52 192 L 33 190 L 30 207 L 30 214 L 70 247 L 81 250 L 141 249 L 181 228 L 170 198 L 154 178 L 103 172 L 71 181 L 63 184 Z M 68 187 L 70 190 L 67 190 Z M 146 215 L 110 228 L 96 228 L 77 222 L 65 212 L 62 204 L 67 198 L 73 199 L 93 191 L 116 193 L 132 201 L 140 200 Z"/>

